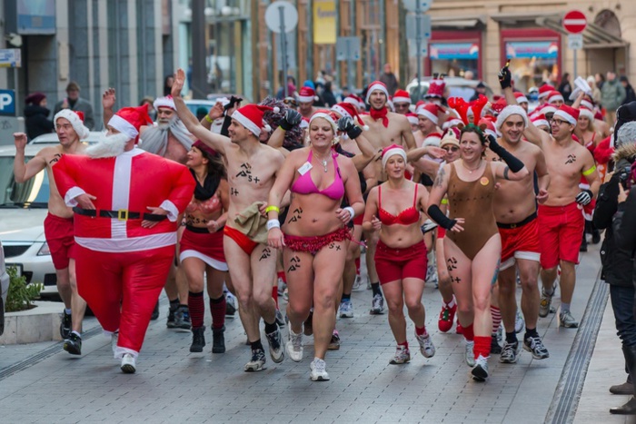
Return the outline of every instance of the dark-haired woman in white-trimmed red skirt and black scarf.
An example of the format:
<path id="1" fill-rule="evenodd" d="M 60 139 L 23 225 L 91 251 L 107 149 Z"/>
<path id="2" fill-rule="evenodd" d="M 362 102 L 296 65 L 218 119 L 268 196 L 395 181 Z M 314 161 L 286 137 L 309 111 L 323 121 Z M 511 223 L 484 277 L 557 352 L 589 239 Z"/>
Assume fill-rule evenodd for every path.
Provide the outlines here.
<path id="1" fill-rule="evenodd" d="M 185 229 L 179 259 L 188 280 L 188 309 L 192 320 L 191 352 L 204 350 L 204 275 L 212 312 L 213 353 L 225 351 L 224 281 L 228 278 L 223 248 L 229 188 L 220 157 L 200 141 L 194 142 L 185 163 L 196 180 L 194 198 L 185 209 Z"/>

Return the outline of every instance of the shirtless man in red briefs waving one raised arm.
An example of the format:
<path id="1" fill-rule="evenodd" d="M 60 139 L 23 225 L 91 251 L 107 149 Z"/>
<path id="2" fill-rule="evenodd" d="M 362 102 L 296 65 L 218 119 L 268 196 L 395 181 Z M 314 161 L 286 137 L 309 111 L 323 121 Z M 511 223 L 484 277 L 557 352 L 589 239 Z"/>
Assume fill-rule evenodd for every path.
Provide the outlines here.
<path id="1" fill-rule="evenodd" d="M 265 334 L 272 360 L 279 363 L 284 359 L 281 332 L 276 325 L 276 304 L 272 299 L 276 254 L 272 248 L 267 247 L 264 229 L 263 242 L 254 242 L 241 231 L 236 219 L 253 206 L 254 202 L 263 202 L 259 210 L 264 213 L 264 204 L 276 175 L 283 166 L 284 157 L 278 150 L 259 142 L 263 112 L 267 107 L 249 104 L 234 112 L 229 138 L 211 133 L 185 105 L 181 97 L 184 80 L 184 70 L 177 70 L 173 97 L 179 118 L 195 137 L 223 156 L 227 167 L 230 206 L 224 228 L 224 251 L 240 303 L 239 314 L 252 347 L 252 358 L 245 364 L 244 370 L 264 370 L 265 354 L 258 325 L 261 317 L 265 321 Z"/>

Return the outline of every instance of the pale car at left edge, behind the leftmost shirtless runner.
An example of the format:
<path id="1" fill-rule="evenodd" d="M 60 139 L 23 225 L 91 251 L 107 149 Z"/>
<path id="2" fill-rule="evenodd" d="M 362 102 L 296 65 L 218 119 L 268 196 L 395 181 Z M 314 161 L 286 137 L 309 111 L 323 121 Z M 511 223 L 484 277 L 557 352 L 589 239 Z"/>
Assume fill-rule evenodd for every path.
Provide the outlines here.
<path id="1" fill-rule="evenodd" d="M 26 160 L 46 147 L 27 144 Z M 15 146 L 0 147 L 0 241 L 5 261 L 15 265 L 27 282 L 42 282 L 44 292 L 57 291 L 57 277 L 45 240 L 44 221 L 48 208 L 49 180 L 46 171 L 31 180 L 14 179 Z"/>

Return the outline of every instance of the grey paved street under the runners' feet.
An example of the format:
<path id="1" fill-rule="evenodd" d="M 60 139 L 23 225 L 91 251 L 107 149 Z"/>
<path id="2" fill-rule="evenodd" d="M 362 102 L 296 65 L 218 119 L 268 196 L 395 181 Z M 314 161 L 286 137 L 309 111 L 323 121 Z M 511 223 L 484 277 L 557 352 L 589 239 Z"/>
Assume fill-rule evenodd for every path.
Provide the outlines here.
<path id="1" fill-rule="evenodd" d="M 581 319 L 596 281 L 598 258 L 598 248 L 591 246 L 577 270 L 577 289 L 572 301 L 572 313 L 577 319 Z M 518 299 L 520 296 L 518 290 Z M 555 300 L 558 306 L 558 294 Z M 523 351 L 517 364 L 504 365 L 493 355 L 492 377 L 486 383 L 477 383 L 469 378 L 470 369 L 463 360 L 462 336 L 454 334 L 454 329 L 448 334 L 437 330 L 441 301 L 433 287 L 424 291 L 427 328 L 437 348 L 430 360 L 420 355 L 412 324 L 407 320 L 412 361 L 402 366 L 389 365 L 395 348 L 387 315 L 368 314 L 371 291 L 353 292 L 353 305 L 355 317 L 337 322 L 343 345 L 341 350 L 327 355 L 327 370 L 332 378 L 328 382 L 309 380 L 309 363 L 313 358 L 311 337 L 303 340 L 301 363 L 287 359 L 282 364 L 273 364 L 268 359 L 267 370 L 243 372 L 249 349 L 244 345 L 238 317 L 226 322 L 225 354 L 210 353 L 210 330 L 205 334 L 208 345 L 204 353 L 190 353 L 190 333 L 165 328 L 167 306 L 162 299 L 162 314 L 148 330 L 136 374 L 121 373 L 119 362 L 112 358 L 110 341 L 101 335 L 84 340 L 81 358 L 68 355 L 60 343 L 59 353 L 4 380 L 0 378 L 2 420 L 538 423 L 545 420 L 551 408 L 577 333 L 558 328 L 553 314 L 540 319 L 538 330 L 550 350 L 550 359 L 532 360 Z M 206 313 L 209 328 L 209 311 Z M 620 405 L 625 397 L 612 397 L 607 388 L 622 381 L 625 375 L 620 342 L 612 336 L 615 331 L 611 330 L 611 324 L 611 320 L 603 320 L 599 336 L 600 340 L 606 340 L 603 345 L 608 349 L 595 350 L 591 360 L 591 368 L 599 361 L 606 366 L 589 372 L 587 378 L 590 389 L 605 390 L 602 396 L 608 399 L 603 402 L 614 406 Z M 286 335 L 286 329 L 283 332 Z M 0 355 L 0 367 L 5 368 L 12 359 L 14 363 L 23 360 L 25 350 L 7 346 L 0 348 Z M 606 361 L 609 355 L 619 356 L 615 365 Z M 592 380 L 594 376 L 599 380 Z M 584 417 L 577 416 L 576 422 L 625 422 L 610 420 L 609 406 L 595 400 L 598 396 L 595 393 L 588 400 L 590 389 L 588 384 L 583 389 L 579 409 L 586 412 L 582 414 Z M 597 414 L 593 421 L 587 419 L 592 412 Z"/>

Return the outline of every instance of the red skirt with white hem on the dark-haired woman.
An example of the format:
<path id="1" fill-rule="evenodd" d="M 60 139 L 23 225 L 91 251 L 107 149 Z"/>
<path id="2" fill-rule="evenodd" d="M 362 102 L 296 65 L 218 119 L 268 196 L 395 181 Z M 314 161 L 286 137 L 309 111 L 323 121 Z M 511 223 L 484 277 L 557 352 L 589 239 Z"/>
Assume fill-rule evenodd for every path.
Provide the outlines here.
<path id="1" fill-rule="evenodd" d="M 227 271 L 223 237 L 224 232 L 208 232 L 206 228 L 185 227 L 179 245 L 179 260 L 198 258 L 215 270 Z"/>

